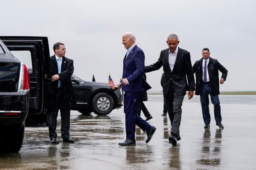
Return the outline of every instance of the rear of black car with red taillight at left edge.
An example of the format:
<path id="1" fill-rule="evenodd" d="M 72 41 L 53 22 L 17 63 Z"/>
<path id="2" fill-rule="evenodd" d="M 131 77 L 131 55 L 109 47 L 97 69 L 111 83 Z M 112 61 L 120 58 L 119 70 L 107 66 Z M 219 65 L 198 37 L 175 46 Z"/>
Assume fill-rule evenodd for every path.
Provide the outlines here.
<path id="1" fill-rule="evenodd" d="M 0 40 L 0 151 L 17 152 L 29 111 L 29 73 Z"/>

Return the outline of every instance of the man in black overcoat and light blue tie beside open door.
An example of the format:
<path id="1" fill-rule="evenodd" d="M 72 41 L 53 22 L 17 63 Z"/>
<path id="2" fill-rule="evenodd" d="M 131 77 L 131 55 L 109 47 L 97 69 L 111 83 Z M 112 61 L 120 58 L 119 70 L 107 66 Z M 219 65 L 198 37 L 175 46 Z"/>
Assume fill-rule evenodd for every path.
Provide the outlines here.
<path id="1" fill-rule="evenodd" d="M 55 43 L 53 46 L 55 55 L 50 57 L 52 76 L 52 101 L 50 114 L 48 117 L 49 137 L 53 144 L 58 144 L 57 140 L 57 116 L 58 110 L 61 112 L 61 137 L 64 142 L 73 143 L 70 138 L 70 108 L 75 104 L 75 95 L 71 82 L 71 75 L 74 72 L 73 60 L 66 58 L 66 47 L 63 43 Z M 50 120 L 50 121 L 49 121 Z"/>

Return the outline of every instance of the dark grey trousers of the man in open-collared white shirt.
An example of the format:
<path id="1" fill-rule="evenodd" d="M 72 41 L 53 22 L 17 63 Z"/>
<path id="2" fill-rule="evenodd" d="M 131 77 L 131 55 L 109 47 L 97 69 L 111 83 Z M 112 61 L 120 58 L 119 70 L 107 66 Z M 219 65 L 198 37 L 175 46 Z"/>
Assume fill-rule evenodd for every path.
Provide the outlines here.
<path id="1" fill-rule="evenodd" d="M 172 86 L 170 87 L 168 94 L 165 96 L 166 107 L 172 124 L 171 133 L 176 137 L 180 135 L 181 106 L 183 99 L 184 96 L 177 95 Z"/>

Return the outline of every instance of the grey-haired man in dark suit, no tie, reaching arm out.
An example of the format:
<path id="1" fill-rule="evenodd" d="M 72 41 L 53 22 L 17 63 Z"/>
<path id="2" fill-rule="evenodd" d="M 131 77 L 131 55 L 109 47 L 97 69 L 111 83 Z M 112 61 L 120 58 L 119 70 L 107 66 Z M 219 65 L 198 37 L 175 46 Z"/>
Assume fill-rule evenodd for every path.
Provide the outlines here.
<path id="1" fill-rule="evenodd" d="M 189 90 L 189 99 L 193 97 L 195 90 L 190 54 L 177 47 L 179 42 L 177 35 L 169 35 L 166 41 L 169 48 L 161 51 L 156 63 L 145 66 L 145 72 L 152 72 L 163 66 L 163 95 L 172 124 L 172 136 L 169 137 L 172 145 L 180 140 L 181 106 L 186 90 Z"/>

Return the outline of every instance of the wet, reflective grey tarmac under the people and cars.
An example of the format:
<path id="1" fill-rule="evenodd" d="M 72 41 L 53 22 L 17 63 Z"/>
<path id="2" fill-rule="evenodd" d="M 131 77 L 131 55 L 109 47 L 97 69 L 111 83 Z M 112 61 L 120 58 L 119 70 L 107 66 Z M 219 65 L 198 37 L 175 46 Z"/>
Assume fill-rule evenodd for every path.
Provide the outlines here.
<path id="1" fill-rule="evenodd" d="M 109 115 L 81 115 L 71 111 L 70 135 L 74 144 L 62 143 L 60 116 L 58 139 L 49 144 L 47 127 L 26 127 L 19 153 L 0 153 L 1 170 L 255 170 L 256 96 L 221 95 L 224 129 L 211 124 L 204 129 L 198 96 L 185 97 L 180 126 L 181 140 L 169 144 L 169 117 L 163 113 L 163 96 L 148 95 L 145 102 L 157 127 L 146 144 L 146 133 L 136 129 L 136 146 L 122 147 L 125 115 L 115 109 Z M 144 115 L 142 113 L 142 117 Z"/>

